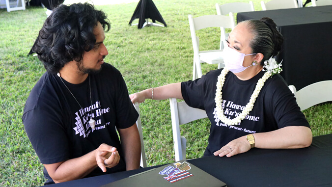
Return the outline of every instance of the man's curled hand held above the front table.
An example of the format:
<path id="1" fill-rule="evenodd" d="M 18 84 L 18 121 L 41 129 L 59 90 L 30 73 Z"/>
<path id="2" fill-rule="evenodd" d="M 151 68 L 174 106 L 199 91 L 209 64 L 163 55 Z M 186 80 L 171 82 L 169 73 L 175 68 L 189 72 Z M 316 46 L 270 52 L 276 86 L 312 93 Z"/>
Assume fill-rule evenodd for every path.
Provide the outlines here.
<path id="1" fill-rule="evenodd" d="M 106 167 L 111 168 L 119 163 L 120 155 L 115 147 L 105 143 L 101 144 L 96 151 L 96 161 L 100 169 L 106 172 Z"/>

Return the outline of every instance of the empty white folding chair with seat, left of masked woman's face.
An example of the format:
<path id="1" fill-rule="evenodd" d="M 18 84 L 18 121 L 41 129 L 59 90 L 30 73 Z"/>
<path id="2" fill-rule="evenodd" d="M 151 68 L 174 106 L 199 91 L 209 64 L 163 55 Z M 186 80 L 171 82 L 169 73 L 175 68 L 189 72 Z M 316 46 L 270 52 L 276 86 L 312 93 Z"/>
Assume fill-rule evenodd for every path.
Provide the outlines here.
<path id="1" fill-rule="evenodd" d="M 222 58 L 222 49 L 211 51 L 199 51 L 199 39 L 196 36 L 196 30 L 208 27 L 221 28 L 221 43 L 225 40 L 224 28 L 235 27 L 234 17 L 231 13 L 229 16 L 223 15 L 206 15 L 193 18 L 192 15 L 188 16 L 190 33 L 193 41 L 194 48 L 194 64 L 193 64 L 193 80 L 202 77 L 201 63 L 218 64 L 218 68 L 224 67 Z M 220 45 L 222 46 L 222 45 Z"/>

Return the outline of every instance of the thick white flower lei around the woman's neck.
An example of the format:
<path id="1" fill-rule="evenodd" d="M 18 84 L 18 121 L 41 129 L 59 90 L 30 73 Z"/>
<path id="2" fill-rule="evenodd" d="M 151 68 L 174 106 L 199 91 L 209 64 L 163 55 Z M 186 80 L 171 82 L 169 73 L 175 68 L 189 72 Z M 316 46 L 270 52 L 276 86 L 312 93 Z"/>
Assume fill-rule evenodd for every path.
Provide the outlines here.
<path id="1" fill-rule="evenodd" d="M 260 78 L 257 81 L 255 90 L 253 91 L 249 103 L 246 105 L 245 109 L 242 111 L 242 113 L 240 113 L 237 117 L 235 117 L 234 119 L 228 119 L 224 114 L 223 114 L 223 110 L 222 110 L 222 86 L 223 83 L 225 82 L 225 77 L 227 75 L 229 70 L 227 70 L 226 68 L 223 68 L 223 70 L 221 71 L 221 74 L 218 76 L 218 81 L 217 81 L 217 90 L 216 90 L 216 110 L 217 110 L 217 115 L 219 117 L 219 119 L 227 124 L 227 125 L 239 125 L 239 123 L 245 119 L 245 117 L 249 114 L 249 112 L 252 110 L 253 108 L 253 104 L 256 101 L 256 98 L 258 97 L 258 94 L 260 92 L 260 90 L 262 89 L 262 87 L 264 86 L 264 83 L 267 79 L 269 79 L 269 77 L 272 75 L 270 72 L 265 72 L 264 76 L 262 78 Z"/>

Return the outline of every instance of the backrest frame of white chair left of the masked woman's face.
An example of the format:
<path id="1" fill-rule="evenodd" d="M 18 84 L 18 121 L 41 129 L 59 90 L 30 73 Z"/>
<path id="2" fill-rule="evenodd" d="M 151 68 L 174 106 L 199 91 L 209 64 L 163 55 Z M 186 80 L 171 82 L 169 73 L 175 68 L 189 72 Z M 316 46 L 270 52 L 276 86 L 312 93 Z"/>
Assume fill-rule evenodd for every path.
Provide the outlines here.
<path id="1" fill-rule="evenodd" d="M 197 18 L 193 18 L 193 16 L 190 14 L 188 15 L 188 18 L 189 18 L 189 27 L 190 27 L 190 33 L 192 36 L 192 42 L 194 48 L 194 55 L 198 55 L 199 53 L 199 39 L 198 37 L 196 37 L 196 32 L 195 32 L 196 30 L 208 27 L 220 27 L 221 42 L 222 42 L 223 40 L 226 39 L 224 28 L 233 29 L 235 27 L 233 14 L 230 14 L 229 16 L 205 15 Z"/>

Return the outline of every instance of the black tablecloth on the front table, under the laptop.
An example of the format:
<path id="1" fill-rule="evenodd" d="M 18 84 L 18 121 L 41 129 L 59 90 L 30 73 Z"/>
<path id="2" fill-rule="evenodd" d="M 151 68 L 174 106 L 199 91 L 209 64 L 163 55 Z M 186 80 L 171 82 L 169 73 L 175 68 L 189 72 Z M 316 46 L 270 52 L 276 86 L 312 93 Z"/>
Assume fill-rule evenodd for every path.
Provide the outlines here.
<path id="1" fill-rule="evenodd" d="M 227 187 L 328 187 L 332 186 L 332 134 L 314 137 L 311 146 L 303 149 L 255 148 L 230 158 L 212 156 L 187 161 L 225 182 Z M 154 167 L 51 187 L 99 187 Z"/>

